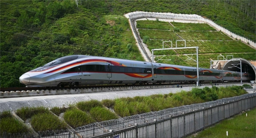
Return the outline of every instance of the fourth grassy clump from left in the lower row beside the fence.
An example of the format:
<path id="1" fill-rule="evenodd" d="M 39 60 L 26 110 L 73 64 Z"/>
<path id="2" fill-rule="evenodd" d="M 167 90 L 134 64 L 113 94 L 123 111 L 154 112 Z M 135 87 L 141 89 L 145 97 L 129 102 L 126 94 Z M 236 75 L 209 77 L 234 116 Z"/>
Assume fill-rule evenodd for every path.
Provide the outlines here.
<path id="1" fill-rule="evenodd" d="M 117 119 L 118 117 L 111 111 L 107 110 L 104 107 L 94 107 L 90 110 L 90 115 L 95 119 L 97 122 Z"/>

